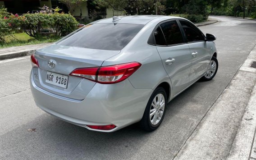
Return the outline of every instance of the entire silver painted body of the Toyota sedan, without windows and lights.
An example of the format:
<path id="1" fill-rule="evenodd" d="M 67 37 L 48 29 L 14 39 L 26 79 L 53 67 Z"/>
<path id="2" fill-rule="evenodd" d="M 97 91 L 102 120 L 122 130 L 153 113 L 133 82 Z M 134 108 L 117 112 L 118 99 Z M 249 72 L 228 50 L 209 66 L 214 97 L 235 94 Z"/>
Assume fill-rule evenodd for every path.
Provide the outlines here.
<path id="1" fill-rule="evenodd" d="M 117 126 L 113 130 L 98 130 L 103 132 L 119 130 L 140 121 L 157 86 L 163 82 L 169 84 L 170 101 L 201 78 L 216 52 L 214 42 L 183 43 L 169 47 L 148 44 L 155 26 L 169 19 L 183 18 L 128 16 L 115 22 L 108 18 L 91 23 L 145 25 L 121 51 L 75 48 L 58 44 L 38 50 L 35 57 L 39 68 L 32 69 L 30 78 L 31 91 L 37 106 L 55 117 L 86 128 L 86 125 Z M 193 52 L 198 52 L 197 56 L 192 56 Z M 171 65 L 165 64 L 169 58 L 175 59 Z M 56 62 L 54 68 L 47 65 L 49 60 Z M 69 76 L 76 68 L 135 61 L 142 66 L 128 79 L 115 84 L 100 84 Z M 46 71 L 69 76 L 69 87 L 64 89 L 46 84 Z"/>

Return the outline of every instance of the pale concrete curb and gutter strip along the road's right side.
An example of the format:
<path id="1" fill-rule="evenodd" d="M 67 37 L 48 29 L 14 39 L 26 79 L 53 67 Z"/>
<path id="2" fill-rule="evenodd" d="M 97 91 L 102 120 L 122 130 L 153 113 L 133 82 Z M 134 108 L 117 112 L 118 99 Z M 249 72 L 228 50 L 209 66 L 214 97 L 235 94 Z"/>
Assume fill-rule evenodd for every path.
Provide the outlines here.
<path id="1" fill-rule="evenodd" d="M 254 63 L 256 46 L 174 160 L 256 160 Z"/>

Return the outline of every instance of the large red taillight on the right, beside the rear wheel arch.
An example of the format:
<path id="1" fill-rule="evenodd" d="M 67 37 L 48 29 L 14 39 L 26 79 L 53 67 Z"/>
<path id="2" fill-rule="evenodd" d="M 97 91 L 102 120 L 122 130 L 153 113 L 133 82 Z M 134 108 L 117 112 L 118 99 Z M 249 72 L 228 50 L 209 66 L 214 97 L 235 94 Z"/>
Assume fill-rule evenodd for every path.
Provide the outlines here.
<path id="1" fill-rule="evenodd" d="M 125 80 L 141 66 L 138 62 L 104 67 L 78 68 L 70 75 L 87 78 L 102 84 L 112 84 Z"/>

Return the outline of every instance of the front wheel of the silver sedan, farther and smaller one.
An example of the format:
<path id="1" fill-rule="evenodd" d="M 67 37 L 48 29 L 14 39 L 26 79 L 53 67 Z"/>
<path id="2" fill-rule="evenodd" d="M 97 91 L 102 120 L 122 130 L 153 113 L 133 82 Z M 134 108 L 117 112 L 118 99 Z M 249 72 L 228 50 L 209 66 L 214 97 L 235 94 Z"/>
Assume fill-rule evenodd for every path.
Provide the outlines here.
<path id="1" fill-rule="evenodd" d="M 213 68 L 213 65 L 215 64 L 215 68 Z M 216 57 L 212 57 L 210 60 L 210 68 L 207 70 L 206 74 L 201 78 L 201 81 L 210 81 L 212 78 L 215 77 L 217 71 L 218 71 L 219 63 Z M 214 72 L 213 72 L 214 71 Z"/>

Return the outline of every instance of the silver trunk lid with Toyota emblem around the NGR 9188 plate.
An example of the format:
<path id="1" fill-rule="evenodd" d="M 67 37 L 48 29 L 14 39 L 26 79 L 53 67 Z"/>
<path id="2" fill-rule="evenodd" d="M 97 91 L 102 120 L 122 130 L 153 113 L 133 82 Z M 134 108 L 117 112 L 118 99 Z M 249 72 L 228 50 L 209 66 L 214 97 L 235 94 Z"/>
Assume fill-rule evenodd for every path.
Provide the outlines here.
<path id="1" fill-rule="evenodd" d="M 35 84 L 50 93 L 71 99 L 82 100 L 91 91 L 96 82 L 85 78 L 70 76 L 77 68 L 100 67 L 103 61 L 117 55 L 120 51 L 98 50 L 50 45 L 35 52 L 39 68 L 34 68 Z M 49 61 L 54 61 L 55 66 L 50 67 Z M 68 76 L 67 88 L 46 82 L 47 72 Z M 56 79 L 53 79 L 53 82 Z"/>

